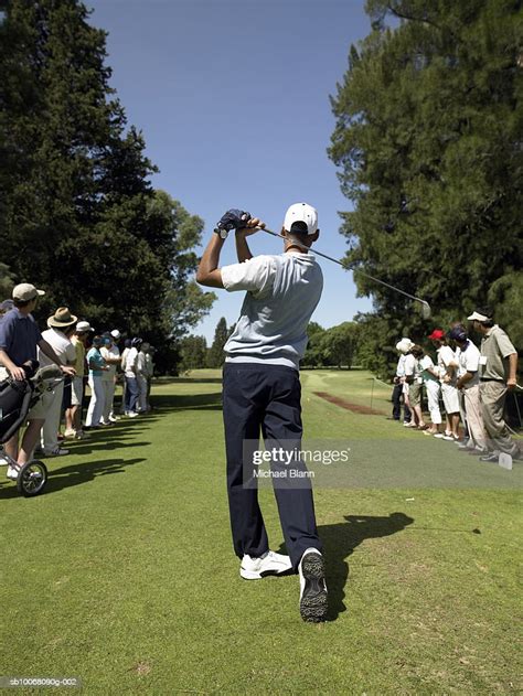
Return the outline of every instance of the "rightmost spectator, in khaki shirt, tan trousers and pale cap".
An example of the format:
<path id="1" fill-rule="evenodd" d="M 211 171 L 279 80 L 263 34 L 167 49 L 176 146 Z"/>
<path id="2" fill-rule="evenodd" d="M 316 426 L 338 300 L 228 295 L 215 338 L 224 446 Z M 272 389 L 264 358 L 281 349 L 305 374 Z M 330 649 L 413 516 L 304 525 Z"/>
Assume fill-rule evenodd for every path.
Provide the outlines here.
<path id="1" fill-rule="evenodd" d="M 503 329 L 494 324 L 490 309 L 477 309 L 468 319 L 482 335 L 480 396 L 483 425 L 489 436 L 489 453 L 480 459 L 497 461 L 500 452 L 510 454 L 512 459 L 521 459 L 520 449 L 509 433 L 503 415 L 506 392 L 514 389 L 517 384 L 517 352 Z"/>

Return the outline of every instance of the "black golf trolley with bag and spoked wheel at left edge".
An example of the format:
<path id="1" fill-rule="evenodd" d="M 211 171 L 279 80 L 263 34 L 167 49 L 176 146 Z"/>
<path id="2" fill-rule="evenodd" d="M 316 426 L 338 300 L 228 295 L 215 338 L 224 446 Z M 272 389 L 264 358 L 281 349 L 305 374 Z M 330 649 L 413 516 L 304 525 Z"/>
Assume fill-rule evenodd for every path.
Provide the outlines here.
<path id="1" fill-rule="evenodd" d="M 35 459 L 20 465 L 9 457 L 2 445 L 24 425 L 29 411 L 44 392 L 52 392 L 64 378 L 57 365 L 47 365 L 40 370 L 38 367 L 38 361 L 29 361 L 22 365 L 24 379 L 8 377 L 0 382 L 0 465 L 18 470 L 17 489 L 25 497 L 43 491 L 47 481 L 47 469 Z"/>

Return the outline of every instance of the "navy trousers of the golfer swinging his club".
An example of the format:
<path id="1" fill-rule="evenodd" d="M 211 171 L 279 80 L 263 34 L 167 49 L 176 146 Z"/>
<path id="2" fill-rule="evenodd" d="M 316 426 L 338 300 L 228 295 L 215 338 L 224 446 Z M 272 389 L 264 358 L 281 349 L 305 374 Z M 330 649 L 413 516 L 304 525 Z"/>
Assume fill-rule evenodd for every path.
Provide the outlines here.
<path id="1" fill-rule="evenodd" d="M 245 440 L 259 449 L 259 435 L 266 446 L 275 442 L 301 447 L 301 386 L 291 367 L 257 363 L 225 363 L 223 371 L 223 418 L 227 456 L 227 493 L 233 544 L 236 555 L 262 556 L 269 549 L 257 488 L 244 484 Z M 305 464 L 300 468 L 306 470 Z M 321 550 L 316 526 L 310 480 L 298 485 L 273 479 L 281 529 L 292 567 L 298 569 L 303 552 Z"/>

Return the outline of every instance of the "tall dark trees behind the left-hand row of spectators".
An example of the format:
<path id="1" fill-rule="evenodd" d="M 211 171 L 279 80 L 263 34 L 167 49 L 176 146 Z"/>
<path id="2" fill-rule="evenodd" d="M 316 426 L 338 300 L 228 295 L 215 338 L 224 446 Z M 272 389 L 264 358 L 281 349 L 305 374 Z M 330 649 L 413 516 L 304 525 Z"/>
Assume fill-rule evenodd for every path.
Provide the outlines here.
<path id="1" fill-rule="evenodd" d="M 203 222 L 152 188 L 88 15 L 78 0 L 0 0 L 1 287 L 34 282 L 42 314 L 68 304 L 169 362 L 215 297 L 190 280 Z"/>

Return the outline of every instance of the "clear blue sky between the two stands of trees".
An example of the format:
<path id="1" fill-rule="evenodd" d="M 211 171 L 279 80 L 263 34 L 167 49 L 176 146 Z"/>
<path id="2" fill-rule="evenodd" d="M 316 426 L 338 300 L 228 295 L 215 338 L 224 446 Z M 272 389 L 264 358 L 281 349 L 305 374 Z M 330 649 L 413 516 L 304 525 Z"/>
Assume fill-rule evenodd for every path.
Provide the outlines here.
<path id="1" fill-rule="evenodd" d="M 329 95 L 351 43 L 370 32 L 363 0 L 90 0 L 92 23 L 108 32 L 111 85 L 129 124 L 142 130 L 159 167 L 153 185 L 205 221 L 204 242 L 230 207 L 279 231 L 291 203 L 318 208 L 318 248 L 341 258 L 340 192 L 327 148 Z M 277 239 L 252 237 L 254 254 Z M 227 239 L 222 265 L 235 263 Z M 325 275 L 313 320 L 332 326 L 371 308 L 352 274 L 320 259 Z M 236 321 L 239 293 L 218 290 L 193 333 L 211 341 L 221 317 Z"/>

